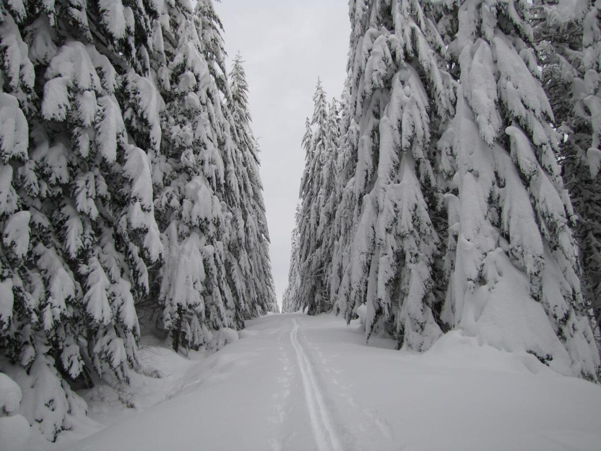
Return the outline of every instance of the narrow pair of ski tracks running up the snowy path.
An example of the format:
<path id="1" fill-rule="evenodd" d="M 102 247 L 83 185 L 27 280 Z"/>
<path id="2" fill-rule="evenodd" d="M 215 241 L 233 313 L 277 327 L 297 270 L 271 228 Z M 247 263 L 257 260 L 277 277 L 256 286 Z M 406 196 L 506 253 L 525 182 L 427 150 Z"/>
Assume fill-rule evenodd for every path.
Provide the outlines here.
<path id="1" fill-rule="evenodd" d="M 311 428 L 313 429 L 313 437 L 315 438 L 317 449 L 320 451 L 343 451 L 338 435 L 332 425 L 328 408 L 323 400 L 322 391 L 317 384 L 313 366 L 311 366 L 307 354 L 305 354 L 305 350 L 301 342 L 299 342 L 299 324 L 296 319 L 292 321 L 294 322 L 294 327 L 290 332 L 290 341 L 292 342 L 294 352 L 296 352 L 296 360 L 301 370 L 302 383 L 305 388 L 305 399 L 307 400 Z"/>

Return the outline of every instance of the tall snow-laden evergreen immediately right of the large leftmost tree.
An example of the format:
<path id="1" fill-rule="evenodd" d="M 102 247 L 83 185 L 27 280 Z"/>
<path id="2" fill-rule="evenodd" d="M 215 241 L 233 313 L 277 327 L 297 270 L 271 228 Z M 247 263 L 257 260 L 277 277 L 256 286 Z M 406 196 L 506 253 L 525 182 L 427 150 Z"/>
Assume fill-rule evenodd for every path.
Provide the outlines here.
<path id="1" fill-rule="evenodd" d="M 156 159 L 155 204 L 166 256 L 160 278 L 163 326 L 177 351 L 210 342 L 210 330 L 232 325 L 233 299 L 223 265 L 230 230 L 221 144 L 227 126 L 218 87 L 201 40 L 200 4 L 169 8 L 163 42 L 169 63 L 163 81 L 163 143 Z"/>

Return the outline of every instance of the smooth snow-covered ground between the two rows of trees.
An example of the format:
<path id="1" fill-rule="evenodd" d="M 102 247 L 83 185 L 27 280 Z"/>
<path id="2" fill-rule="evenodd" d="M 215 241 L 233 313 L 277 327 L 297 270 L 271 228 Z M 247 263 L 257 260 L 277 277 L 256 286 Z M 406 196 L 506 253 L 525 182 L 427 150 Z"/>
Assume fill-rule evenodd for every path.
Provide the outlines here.
<path id="1" fill-rule="evenodd" d="M 159 346 L 164 376 L 84 393 L 91 419 L 48 450 L 601 450 L 601 387 L 531 355 L 452 332 L 426 354 L 365 345 L 358 322 L 273 314 L 190 360 Z M 126 408 L 130 402 L 135 408 Z M 91 434 L 82 438 L 85 434 Z"/>

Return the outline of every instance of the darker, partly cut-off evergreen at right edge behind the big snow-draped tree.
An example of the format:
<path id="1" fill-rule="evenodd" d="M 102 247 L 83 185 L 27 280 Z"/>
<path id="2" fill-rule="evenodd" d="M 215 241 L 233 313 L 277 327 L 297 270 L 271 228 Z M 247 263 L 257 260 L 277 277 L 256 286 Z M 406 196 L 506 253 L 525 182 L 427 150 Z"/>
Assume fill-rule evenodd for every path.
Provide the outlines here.
<path id="1" fill-rule="evenodd" d="M 589 1 L 535 8 L 535 38 L 544 55 L 543 87 L 555 115 L 560 164 L 578 219 L 582 294 L 593 308 L 597 336 L 601 326 L 601 152 L 599 151 L 601 31 L 599 11 Z"/>

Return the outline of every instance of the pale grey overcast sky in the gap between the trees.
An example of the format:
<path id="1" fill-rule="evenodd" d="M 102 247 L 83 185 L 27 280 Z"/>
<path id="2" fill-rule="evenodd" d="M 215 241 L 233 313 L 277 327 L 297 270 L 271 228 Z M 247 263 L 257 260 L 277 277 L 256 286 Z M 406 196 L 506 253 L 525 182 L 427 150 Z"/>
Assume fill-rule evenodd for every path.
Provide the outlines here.
<path id="1" fill-rule="evenodd" d="M 222 0 L 225 49 L 245 60 L 278 303 L 288 281 L 290 233 L 305 154 L 305 117 L 313 114 L 317 77 L 340 97 L 346 77 L 346 0 Z"/>

